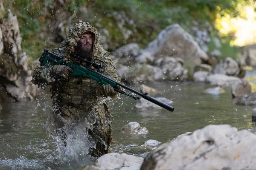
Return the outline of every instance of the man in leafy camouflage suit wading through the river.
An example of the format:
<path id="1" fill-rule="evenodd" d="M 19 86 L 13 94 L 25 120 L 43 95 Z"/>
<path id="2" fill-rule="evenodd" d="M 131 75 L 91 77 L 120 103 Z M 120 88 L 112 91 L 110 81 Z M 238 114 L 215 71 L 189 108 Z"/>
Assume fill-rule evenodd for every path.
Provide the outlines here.
<path id="1" fill-rule="evenodd" d="M 83 51 L 90 49 L 91 53 Z M 119 81 L 116 69 L 109 57 L 109 53 L 99 45 L 99 34 L 96 28 L 89 23 L 80 21 L 75 27 L 70 28 L 65 40 L 53 53 L 63 57 L 66 62 L 76 62 L 71 54 L 80 57 L 94 58 L 105 61 L 104 75 Z M 86 54 L 85 56 L 83 56 Z M 91 55 L 90 55 L 91 54 Z M 32 72 L 32 82 L 41 88 L 51 85 L 53 99 L 54 121 L 57 135 L 65 140 L 64 128 L 76 126 L 81 122 L 87 129 L 87 137 L 93 139 L 94 146 L 90 148 L 90 155 L 99 157 L 110 153 L 111 114 L 106 100 L 118 95 L 110 85 L 101 85 L 89 78 L 69 75 L 73 70 L 64 65 L 44 67 L 38 65 Z"/>

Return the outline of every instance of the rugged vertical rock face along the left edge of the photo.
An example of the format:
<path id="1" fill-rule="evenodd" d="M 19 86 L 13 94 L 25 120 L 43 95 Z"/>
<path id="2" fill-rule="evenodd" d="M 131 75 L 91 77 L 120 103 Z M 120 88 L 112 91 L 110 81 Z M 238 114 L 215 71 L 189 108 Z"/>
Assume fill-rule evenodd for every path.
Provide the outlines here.
<path id="1" fill-rule="evenodd" d="M 37 88 L 30 82 L 33 65 L 26 53 L 21 51 L 17 16 L 10 10 L 6 11 L 6 16 L 1 18 L 0 23 L 0 44 L 3 44 L 3 51 L 0 52 L 0 103 L 32 101 L 37 94 Z"/>

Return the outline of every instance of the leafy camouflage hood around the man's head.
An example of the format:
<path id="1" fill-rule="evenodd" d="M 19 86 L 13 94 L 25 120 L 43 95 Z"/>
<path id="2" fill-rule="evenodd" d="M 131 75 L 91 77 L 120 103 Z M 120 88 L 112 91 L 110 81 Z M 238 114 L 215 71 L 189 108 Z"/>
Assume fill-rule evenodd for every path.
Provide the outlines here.
<path id="1" fill-rule="evenodd" d="M 70 32 L 65 37 L 65 40 L 61 42 L 61 45 L 57 49 L 55 48 L 53 52 L 64 57 L 66 61 L 70 60 L 70 54 L 74 52 L 75 46 L 78 45 L 81 35 L 86 31 L 90 31 L 94 34 L 93 58 L 100 58 L 102 54 L 107 53 L 102 48 L 102 45 L 99 45 L 99 34 L 97 33 L 97 28 L 82 21 L 79 21 L 79 23 L 76 23 L 74 27 L 70 28 Z"/>

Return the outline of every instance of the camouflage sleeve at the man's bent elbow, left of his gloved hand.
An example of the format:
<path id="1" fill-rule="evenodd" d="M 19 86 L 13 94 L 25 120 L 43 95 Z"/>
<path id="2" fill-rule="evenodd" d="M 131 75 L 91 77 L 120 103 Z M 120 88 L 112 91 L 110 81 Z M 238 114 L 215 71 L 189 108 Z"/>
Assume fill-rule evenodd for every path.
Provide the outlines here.
<path id="1" fill-rule="evenodd" d="M 53 81 L 51 76 L 52 67 L 44 67 L 38 65 L 31 73 L 32 83 L 38 85 L 38 87 L 44 88 Z"/>

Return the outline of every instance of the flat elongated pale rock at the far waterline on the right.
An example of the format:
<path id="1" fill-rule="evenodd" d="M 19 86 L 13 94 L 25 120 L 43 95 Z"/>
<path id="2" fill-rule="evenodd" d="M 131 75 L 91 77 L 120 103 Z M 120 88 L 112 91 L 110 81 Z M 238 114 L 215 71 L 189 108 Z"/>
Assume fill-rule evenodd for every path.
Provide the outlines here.
<path id="1" fill-rule="evenodd" d="M 218 85 L 218 86 L 231 86 L 236 82 L 241 82 L 241 79 L 234 76 L 227 76 L 224 74 L 210 74 L 206 82 L 210 83 L 211 85 Z"/>

